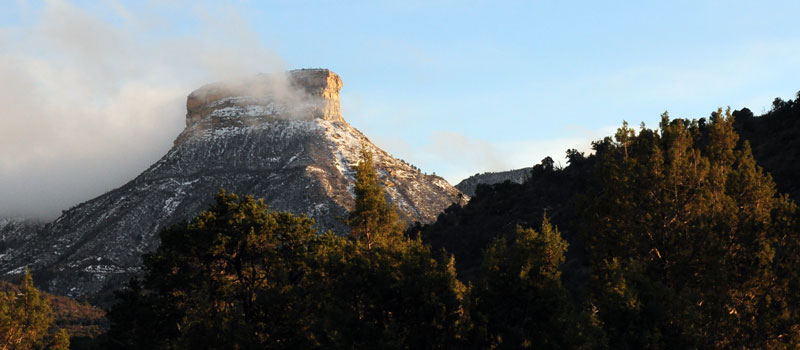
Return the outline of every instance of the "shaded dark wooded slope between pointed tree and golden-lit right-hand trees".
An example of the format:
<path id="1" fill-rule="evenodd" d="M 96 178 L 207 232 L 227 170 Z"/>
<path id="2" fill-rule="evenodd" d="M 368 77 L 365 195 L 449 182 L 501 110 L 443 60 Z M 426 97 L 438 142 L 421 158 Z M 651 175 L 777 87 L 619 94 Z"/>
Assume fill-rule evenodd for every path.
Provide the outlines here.
<path id="1" fill-rule="evenodd" d="M 567 264 L 580 265 L 581 242 L 573 239 L 572 230 L 576 218 L 573 198 L 586 188 L 593 157 L 585 158 L 574 151 L 570 162 L 565 169 L 555 169 L 551 161 L 542 160 L 524 184 L 478 185 L 465 206 L 453 204 L 435 223 L 412 227 L 409 232 L 419 233 L 433 249 L 446 249 L 455 255 L 459 275 L 470 280 L 481 264 L 483 250 L 496 237 L 513 239 L 517 226 L 540 226 L 546 212 L 570 244 L 578 247 L 567 253 Z M 581 273 L 571 269 L 566 277 L 573 279 L 573 272 Z"/>

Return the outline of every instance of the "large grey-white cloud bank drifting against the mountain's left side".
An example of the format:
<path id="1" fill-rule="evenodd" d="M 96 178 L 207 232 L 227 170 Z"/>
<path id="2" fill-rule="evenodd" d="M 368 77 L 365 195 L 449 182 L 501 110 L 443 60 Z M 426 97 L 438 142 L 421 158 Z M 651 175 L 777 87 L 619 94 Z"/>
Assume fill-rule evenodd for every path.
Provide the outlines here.
<path id="1" fill-rule="evenodd" d="M 123 184 L 169 149 L 191 90 L 284 70 L 235 11 L 106 5 L 21 3 L 0 32 L 0 216 L 52 218 Z"/>

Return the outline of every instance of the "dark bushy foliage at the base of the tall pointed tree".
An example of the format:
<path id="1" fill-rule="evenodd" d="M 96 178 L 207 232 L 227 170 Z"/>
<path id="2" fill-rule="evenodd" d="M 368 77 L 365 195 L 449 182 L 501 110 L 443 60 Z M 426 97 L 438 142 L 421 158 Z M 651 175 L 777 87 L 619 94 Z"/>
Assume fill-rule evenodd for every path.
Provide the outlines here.
<path id="1" fill-rule="evenodd" d="M 462 294 L 452 261 L 418 240 L 372 249 L 328 236 L 311 285 L 324 348 L 449 349 L 460 344 Z"/>

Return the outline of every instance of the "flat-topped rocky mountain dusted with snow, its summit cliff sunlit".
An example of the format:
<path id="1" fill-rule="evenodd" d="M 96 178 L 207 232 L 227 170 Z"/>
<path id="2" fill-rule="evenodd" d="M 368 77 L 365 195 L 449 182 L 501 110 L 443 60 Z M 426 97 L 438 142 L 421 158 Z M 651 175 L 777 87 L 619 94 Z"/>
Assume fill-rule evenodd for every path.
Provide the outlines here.
<path id="1" fill-rule="evenodd" d="M 0 272 L 26 268 L 45 290 L 102 301 L 140 270 L 158 232 L 206 209 L 220 188 L 348 232 L 361 147 L 407 222 L 431 222 L 467 197 L 375 146 L 342 117 L 341 78 L 327 69 L 206 85 L 186 103 L 186 128 L 138 177 L 44 225 L 6 223 Z"/>

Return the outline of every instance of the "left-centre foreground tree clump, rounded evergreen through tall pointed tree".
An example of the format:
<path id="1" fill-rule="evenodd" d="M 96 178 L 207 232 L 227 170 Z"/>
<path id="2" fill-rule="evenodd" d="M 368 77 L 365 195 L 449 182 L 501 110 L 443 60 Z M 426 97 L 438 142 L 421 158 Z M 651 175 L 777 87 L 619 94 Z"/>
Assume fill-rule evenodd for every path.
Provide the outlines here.
<path id="1" fill-rule="evenodd" d="M 353 234 L 221 192 L 161 232 L 109 313 L 115 349 L 452 348 L 465 287 L 454 262 L 402 235 L 369 153 L 357 170 Z"/>

